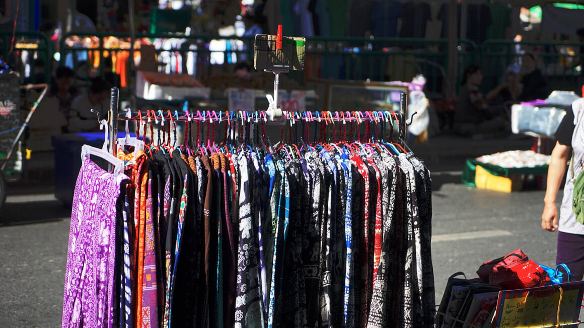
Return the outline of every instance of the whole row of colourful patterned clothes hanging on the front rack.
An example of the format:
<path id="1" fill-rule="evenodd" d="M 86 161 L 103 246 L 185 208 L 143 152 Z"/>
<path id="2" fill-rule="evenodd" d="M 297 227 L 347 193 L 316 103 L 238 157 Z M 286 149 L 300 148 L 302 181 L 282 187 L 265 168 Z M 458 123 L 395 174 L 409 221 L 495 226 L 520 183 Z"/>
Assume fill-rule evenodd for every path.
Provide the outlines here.
<path id="1" fill-rule="evenodd" d="M 431 326 L 430 172 L 377 124 L 327 141 L 329 118 L 310 143 L 230 118 L 221 144 L 208 120 L 180 146 L 120 139 L 117 177 L 85 159 L 63 326 Z"/>

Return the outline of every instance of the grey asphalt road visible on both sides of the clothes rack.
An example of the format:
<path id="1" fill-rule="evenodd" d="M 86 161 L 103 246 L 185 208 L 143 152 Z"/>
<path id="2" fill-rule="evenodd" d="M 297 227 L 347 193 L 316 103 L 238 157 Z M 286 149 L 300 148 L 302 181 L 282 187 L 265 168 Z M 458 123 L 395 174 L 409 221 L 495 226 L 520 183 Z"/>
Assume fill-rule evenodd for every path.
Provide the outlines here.
<path id="1" fill-rule="evenodd" d="M 555 263 L 556 235 L 540 227 L 544 191 L 477 190 L 449 172 L 434 172 L 433 182 L 437 302 L 451 274 L 476 277 L 483 261 L 518 248 Z M 69 215 L 50 187 L 9 195 L 0 214 L 9 224 L 0 226 L 0 327 L 60 326 Z"/>

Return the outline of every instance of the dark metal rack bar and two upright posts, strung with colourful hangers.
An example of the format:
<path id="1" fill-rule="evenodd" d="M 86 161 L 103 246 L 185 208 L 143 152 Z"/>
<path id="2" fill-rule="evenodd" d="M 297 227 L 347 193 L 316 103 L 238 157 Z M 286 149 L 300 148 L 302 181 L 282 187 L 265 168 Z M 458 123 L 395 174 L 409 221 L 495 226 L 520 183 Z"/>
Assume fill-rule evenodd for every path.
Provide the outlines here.
<path id="1" fill-rule="evenodd" d="M 110 94 L 110 110 L 107 115 L 107 121 L 109 122 L 109 151 L 114 156 L 116 155 L 117 149 L 117 123 L 119 121 L 142 121 L 148 120 L 168 120 L 168 121 L 213 121 L 222 123 L 231 121 L 242 121 L 244 123 L 247 121 L 250 123 L 252 120 L 255 123 L 263 121 L 266 124 L 283 124 L 290 123 L 293 126 L 297 121 L 304 121 L 307 123 L 324 122 L 325 124 L 335 124 L 341 123 L 362 123 L 362 122 L 373 122 L 378 123 L 390 123 L 394 126 L 394 121 L 398 124 L 399 142 L 405 145 L 405 135 L 407 125 L 411 124 L 411 121 L 406 122 L 406 110 L 407 110 L 407 94 L 402 92 L 399 99 L 399 111 L 282 111 L 280 117 L 272 117 L 267 114 L 267 111 L 256 110 L 256 111 L 212 111 L 212 110 L 185 110 L 183 113 L 178 113 L 177 110 L 172 113 L 167 110 L 166 113 L 162 110 L 147 110 L 147 111 L 132 111 L 130 117 L 120 117 L 119 110 L 119 92 L 120 90 L 116 87 L 112 88 Z M 415 115 L 416 113 L 412 114 Z"/>

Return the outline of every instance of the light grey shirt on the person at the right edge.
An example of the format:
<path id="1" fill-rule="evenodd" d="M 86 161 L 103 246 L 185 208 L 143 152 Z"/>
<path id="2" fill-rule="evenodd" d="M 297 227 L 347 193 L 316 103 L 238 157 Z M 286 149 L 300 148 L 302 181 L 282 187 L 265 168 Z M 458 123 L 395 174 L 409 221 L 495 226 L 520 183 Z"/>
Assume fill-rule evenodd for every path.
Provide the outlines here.
<path id="1" fill-rule="evenodd" d="M 568 175 L 566 176 L 566 183 L 564 184 L 564 197 L 562 198 L 562 206 L 559 212 L 559 228 L 558 231 L 573 233 L 575 235 L 584 235 L 584 225 L 576 221 L 576 214 L 572 210 L 572 197 L 574 190 L 573 177 L 576 177 L 582 172 L 582 162 L 580 159 L 584 158 L 584 98 L 575 100 L 572 103 L 572 110 L 574 113 L 574 132 L 572 134 L 572 150 L 574 152 L 574 173 L 570 165 L 568 167 Z"/>

